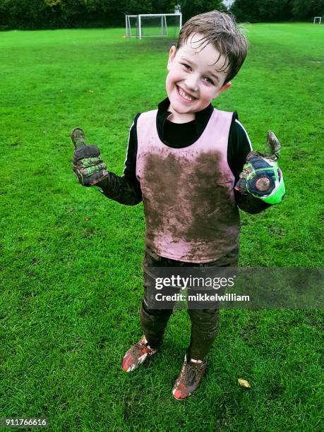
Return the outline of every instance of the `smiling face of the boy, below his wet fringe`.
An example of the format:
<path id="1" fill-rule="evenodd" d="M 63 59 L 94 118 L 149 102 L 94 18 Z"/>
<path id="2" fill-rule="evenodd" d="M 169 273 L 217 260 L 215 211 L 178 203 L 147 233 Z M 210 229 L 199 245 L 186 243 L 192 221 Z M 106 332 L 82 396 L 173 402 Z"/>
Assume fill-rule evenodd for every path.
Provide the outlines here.
<path id="1" fill-rule="evenodd" d="M 224 56 L 212 46 L 198 47 L 202 35 L 196 34 L 176 52 L 172 47 L 169 52 L 166 80 L 167 95 L 170 101 L 170 120 L 185 123 L 195 119 L 195 113 L 208 107 L 210 102 L 231 83 L 224 85 L 228 69 L 220 71 L 224 65 Z M 218 59 L 218 61 L 217 61 Z M 216 62 L 217 61 L 217 62 Z"/>

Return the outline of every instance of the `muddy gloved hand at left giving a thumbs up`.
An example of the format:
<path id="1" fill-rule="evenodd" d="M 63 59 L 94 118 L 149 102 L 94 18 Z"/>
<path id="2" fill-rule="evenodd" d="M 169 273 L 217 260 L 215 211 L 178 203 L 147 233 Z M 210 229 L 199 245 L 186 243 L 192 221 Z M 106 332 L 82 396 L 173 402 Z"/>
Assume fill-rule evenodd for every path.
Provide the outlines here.
<path id="1" fill-rule="evenodd" d="M 85 134 L 80 128 L 71 132 L 73 141 L 73 171 L 80 184 L 93 186 L 108 176 L 107 166 L 100 157 L 97 145 L 86 145 Z"/>

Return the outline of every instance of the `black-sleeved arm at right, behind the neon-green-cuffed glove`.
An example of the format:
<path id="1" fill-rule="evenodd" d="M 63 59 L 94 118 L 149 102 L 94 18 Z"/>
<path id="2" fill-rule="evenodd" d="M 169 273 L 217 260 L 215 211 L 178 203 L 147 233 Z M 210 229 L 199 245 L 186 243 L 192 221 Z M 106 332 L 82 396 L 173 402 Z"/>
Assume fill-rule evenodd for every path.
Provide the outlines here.
<path id="1" fill-rule="evenodd" d="M 234 112 L 229 131 L 227 160 L 229 167 L 235 176 L 235 184 L 239 181 L 239 175 L 243 171 L 246 156 L 251 151 L 252 145 L 248 133 L 237 119 L 236 112 Z M 250 214 L 260 213 L 271 205 L 250 194 L 242 194 L 241 192 L 236 191 L 236 189 L 234 189 L 234 195 L 237 206 L 241 210 L 244 210 L 244 212 Z"/>

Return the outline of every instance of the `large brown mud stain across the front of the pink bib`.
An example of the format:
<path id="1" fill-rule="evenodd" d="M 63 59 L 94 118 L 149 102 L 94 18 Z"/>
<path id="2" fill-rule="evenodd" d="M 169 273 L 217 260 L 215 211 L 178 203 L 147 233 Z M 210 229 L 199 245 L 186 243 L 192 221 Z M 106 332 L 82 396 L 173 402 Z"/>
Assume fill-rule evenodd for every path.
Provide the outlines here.
<path id="1" fill-rule="evenodd" d="M 231 227 L 238 227 L 239 214 L 230 198 L 231 179 L 220 170 L 220 155 L 206 152 L 192 156 L 148 155 L 141 187 L 150 227 L 148 243 L 167 231 L 172 241 L 191 244 L 195 256 L 202 244 L 222 240 Z"/>

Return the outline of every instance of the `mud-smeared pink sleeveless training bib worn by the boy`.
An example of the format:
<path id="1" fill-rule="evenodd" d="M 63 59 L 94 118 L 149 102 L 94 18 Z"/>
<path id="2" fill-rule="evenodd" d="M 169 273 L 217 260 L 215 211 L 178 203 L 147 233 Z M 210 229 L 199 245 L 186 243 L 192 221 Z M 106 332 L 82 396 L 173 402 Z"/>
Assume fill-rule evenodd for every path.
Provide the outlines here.
<path id="1" fill-rule="evenodd" d="M 227 163 L 232 113 L 214 109 L 202 135 L 186 148 L 160 140 L 157 110 L 137 122 L 136 177 L 145 212 L 145 246 L 157 255 L 208 263 L 237 247 L 239 210 Z"/>

